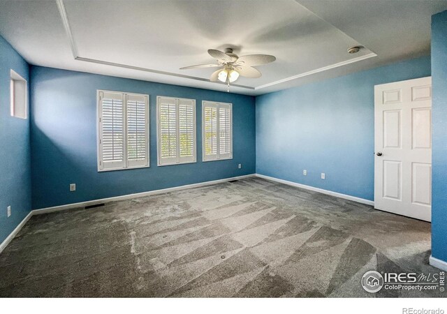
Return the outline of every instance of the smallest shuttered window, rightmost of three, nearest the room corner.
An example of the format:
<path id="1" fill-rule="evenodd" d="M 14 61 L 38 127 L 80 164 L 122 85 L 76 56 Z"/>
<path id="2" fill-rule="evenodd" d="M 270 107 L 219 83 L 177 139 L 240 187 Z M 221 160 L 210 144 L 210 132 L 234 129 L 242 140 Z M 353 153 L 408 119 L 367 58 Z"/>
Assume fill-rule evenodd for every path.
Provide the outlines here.
<path id="1" fill-rule="evenodd" d="M 233 105 L 203 101 L 203 161 L 233 158 Z"/>

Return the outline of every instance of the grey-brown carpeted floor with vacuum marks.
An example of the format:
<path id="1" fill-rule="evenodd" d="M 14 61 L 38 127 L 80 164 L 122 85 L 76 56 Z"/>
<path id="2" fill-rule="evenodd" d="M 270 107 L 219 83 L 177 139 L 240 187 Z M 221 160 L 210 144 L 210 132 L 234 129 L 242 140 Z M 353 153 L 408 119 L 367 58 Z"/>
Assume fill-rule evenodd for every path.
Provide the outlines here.
<path id="1" fill-rule="evenodd" d="M 33 216 L 0 297 L 439 297 L 365 292 L 367 270 L 437 272 L 430 224 L 252 178 Z"/>

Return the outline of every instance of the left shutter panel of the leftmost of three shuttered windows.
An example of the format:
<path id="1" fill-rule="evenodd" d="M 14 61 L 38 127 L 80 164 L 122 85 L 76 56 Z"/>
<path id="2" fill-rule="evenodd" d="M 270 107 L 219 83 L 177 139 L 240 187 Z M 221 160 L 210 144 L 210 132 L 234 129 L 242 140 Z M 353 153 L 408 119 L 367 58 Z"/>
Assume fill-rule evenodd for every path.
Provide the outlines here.
<path id="1" fill-rule="evenodd" d="M 99 168 L 124 167 L 124 95 L 101 91 L 99 99 Z"/>

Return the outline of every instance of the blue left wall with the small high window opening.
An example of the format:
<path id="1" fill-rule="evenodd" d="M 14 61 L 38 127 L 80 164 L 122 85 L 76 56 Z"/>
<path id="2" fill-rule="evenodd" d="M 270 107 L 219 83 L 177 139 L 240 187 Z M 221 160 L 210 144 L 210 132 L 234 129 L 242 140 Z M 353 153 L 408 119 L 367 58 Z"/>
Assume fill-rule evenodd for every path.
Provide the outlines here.
<path id="1" fill-rule="evenodd" d="M 0 36 L 0 243 L 31 210 L 29 119 L 10 115 L 11 69 L 29 82 L 28 63 Z"/>

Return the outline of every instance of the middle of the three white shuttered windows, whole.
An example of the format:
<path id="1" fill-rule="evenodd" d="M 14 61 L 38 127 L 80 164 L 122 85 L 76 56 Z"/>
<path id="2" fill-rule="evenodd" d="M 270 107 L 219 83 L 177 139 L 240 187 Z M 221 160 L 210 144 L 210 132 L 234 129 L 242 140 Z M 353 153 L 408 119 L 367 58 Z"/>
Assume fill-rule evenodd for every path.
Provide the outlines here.
<path id="1" fill-rule="evenodd" d="M 196 162 L 196 100 L 156 98 L 158 165 Z"/>

